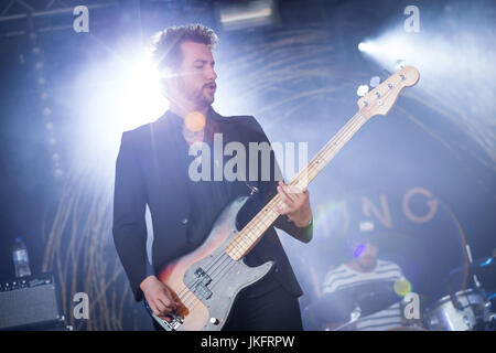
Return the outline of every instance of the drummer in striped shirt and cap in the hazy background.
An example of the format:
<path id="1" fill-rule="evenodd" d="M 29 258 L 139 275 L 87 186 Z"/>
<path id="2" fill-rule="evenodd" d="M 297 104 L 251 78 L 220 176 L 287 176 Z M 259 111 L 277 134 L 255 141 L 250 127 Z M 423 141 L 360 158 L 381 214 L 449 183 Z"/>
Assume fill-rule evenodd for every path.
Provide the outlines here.
<path id="1" fill-rule="evenodd" d="M 353 258 L 347 264 L 327 272 L 323 284 L 323 295 L 375 280 L 393 282 L 406 280 L 398 265 L 378 258 L 379 247 L 373 222 L 360 222 L 359 231 L 352 232 L 347 245 Z M 382 311 L 359 318 L 346 330 L 382 331 L 398 329 L 406 324 L 402 306 L 397 302 Z"/>

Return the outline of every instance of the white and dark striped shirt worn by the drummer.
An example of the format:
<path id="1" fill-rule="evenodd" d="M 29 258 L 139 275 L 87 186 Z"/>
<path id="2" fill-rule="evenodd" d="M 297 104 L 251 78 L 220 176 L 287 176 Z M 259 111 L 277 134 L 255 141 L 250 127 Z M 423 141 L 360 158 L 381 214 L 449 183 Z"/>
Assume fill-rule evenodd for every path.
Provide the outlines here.
<path id="1" fill-rule="evenodd" d="M 332 293 L 341 289 L 366 284 L 375 280 L 397 281 L 405 280 L 405 276 L 398 265 L 391 261 L 377 260 L 376 268 L 370 272 L 357 272 L 346 265 L 330 271 L 324 280 L 323 293 Z M 400 303 L 397 302 L 389 308 L 359 318 L 355 323 L 356 331 L 382 331 L 402 325 Z"/>

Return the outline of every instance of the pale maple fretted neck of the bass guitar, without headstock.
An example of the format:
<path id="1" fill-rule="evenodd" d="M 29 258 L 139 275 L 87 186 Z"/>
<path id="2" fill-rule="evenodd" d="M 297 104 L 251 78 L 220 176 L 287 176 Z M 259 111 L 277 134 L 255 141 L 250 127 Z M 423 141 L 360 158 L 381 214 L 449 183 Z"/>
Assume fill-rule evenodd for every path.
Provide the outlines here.
<path id="1" fill-rule="evenodd" d="M 300 190 L 306 189 L 310 182 L 324 169 L 337 152 L 367 121 L 359 111 L 319 151 L 319 153 L 289 182 Z M 276 205 L 281 206 L 279 194 L 238 233 L 226 247 L 226 253 L 235 260 L 241 259 L 260 240 L 261 236 L 279 216 Z"/>

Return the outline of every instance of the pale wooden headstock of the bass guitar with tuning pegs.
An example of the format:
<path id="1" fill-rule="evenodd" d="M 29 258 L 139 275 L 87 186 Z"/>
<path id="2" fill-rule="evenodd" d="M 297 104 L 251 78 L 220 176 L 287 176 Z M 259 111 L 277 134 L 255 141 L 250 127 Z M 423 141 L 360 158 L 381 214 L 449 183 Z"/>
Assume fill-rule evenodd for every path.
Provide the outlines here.
<path id="1" fill-rule="evenodd" d="M 417 84 L 419 71 L 413 66 L 406 66 L 391 75 L 376 88 L 358 99 L 360 114 L 365 118 L 375 115 L 386 115 L 392 108 L 401 89 Z"/>

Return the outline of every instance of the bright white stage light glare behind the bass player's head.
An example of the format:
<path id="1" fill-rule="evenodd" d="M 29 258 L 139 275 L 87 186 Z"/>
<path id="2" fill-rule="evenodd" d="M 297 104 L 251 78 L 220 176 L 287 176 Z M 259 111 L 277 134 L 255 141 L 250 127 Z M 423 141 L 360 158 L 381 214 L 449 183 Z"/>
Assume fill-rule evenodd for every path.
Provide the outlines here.
<path id="1" fill-rule="evenodd" d="M 80 131 L 74 147 L 78 168 L 98 160 L 110 171 L 122 132 L 157 120 L 169 107 L 160 73 L 144 47 L 91 63 L 78 73 L 74 85 L 78 89 L 66 99 L 73 103 L 74 124 Z"/>

